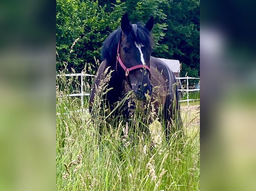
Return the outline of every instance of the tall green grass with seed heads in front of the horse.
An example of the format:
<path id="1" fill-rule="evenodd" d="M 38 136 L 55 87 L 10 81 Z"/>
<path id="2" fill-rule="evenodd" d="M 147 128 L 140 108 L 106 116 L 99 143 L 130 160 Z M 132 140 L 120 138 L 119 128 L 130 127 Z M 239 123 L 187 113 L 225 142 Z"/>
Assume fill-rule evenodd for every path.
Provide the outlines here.
<path id="1" fill-rule="evenodd" d="M 158 113 L 149 102 L 149 113 L 136 107 L 129 121 L 122 115 L 111 118 L 108 108 L 100 104 L 99 91 L 92 115 L 87 110 L 77 111 L 81 100 L 67 95 L 71 85 L 81 88 L 79 78 L 66 78 L 65 72 L 66 69 L 61 71 L 56 80 L 56 190 L 200 190 L 196 111 L 182 110 L 182 144 L 178 133 L 166 141 L 164 125 L 157 120 Z M 107 81 L 106 74 L 106 81 L 99 88 L 107 90 Z M 89 92 L 87 84 L 84 89 Z M 131 96 L 127 95 L 126 100 Z M 117 107 L 123 103 L 120 100 Z M 84 105 L 88 106 L 88 98 Z M 143 133 L 142 127 L 148 127 L 150 132 Z"/>

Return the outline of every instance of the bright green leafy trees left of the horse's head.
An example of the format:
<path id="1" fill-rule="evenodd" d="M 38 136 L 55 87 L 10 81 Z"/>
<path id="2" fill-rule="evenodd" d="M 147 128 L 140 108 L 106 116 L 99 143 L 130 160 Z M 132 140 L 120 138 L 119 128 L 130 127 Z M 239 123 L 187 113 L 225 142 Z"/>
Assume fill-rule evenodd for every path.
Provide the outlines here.
<path id="1" fill-rule="evenodd" d="M 119 26 L 122 15 L 106 13 L 105 8 L 99 6 L 98 1 L 56 1 L 57 70 L 62 68 L 63 61 L 69 60 L 68 68 L 81 72 L 85 62 L 94 63 L 94 57 L 100 58 L 103 41 Z M 70 47 L 77 38 L 80 39 L 70 54 Z"/>

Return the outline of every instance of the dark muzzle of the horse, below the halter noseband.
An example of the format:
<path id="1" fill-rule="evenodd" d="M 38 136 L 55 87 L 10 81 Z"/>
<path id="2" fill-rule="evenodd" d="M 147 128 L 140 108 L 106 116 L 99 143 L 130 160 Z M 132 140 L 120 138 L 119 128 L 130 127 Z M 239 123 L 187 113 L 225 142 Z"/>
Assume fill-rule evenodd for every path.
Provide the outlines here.
<path id="1" fill-rule="evenodd" d="M 145 94 L 151 95 L 153 92 L 153 86 L 147 84 L 134 84 L 132 87 L 133 92 L 135 93 L 138 100 L 146 100 Z"/>

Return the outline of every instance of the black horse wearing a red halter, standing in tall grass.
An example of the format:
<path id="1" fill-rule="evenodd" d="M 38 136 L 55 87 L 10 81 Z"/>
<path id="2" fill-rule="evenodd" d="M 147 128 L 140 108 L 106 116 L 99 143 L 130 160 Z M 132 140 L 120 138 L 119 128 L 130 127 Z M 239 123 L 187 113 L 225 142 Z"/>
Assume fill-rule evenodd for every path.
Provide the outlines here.
<path id="1" fill-rule="evenodd" d="M 150 31 L 153 25 L 153 17 L 143 26 L 142 23 L 130 24 L 127 13 L 123 15 L 121 28 L 112 32 L 103 43 L 103 61 L 93 82 L 89 110 L 92 112 L 95 93 L 99 91 L 103 73 L 109 67 L 108 73 L 111 70 L 112 73 L 107 88 L 112 89 L 103 95 L 109 110 L 113 110 L 115 102 L 131 90 L 138 100 L 145 101 L 148 94 L 155 112 L 162 113 L 168 136 L 171 130 L 176 131 L 177 127 L 179 130 L 182 126 L 178 90 L 176 79 L 166 64 L 151 57 L 153 38 Z M 158 112 L 159 109 L 162 112 Z"/>

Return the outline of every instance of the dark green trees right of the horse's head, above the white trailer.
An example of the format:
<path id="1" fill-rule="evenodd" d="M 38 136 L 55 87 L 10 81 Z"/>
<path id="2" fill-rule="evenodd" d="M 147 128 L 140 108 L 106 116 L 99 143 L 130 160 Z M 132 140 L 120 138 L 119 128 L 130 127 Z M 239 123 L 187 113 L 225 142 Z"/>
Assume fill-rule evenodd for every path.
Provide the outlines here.
<path id="1" fill-rule="evenodd" d="M 183 64 L 183 73 L 188 72 L 188 76 L 196 77 L 200 71 L 199 0 L 166 0 L 162 1 L 161 9 L 167 15 L 164 22 L 168 27 L 161 41 L 165 49 L 159 49 L 154 55 L 179 60 Z"/>

